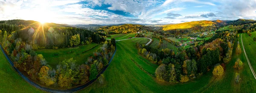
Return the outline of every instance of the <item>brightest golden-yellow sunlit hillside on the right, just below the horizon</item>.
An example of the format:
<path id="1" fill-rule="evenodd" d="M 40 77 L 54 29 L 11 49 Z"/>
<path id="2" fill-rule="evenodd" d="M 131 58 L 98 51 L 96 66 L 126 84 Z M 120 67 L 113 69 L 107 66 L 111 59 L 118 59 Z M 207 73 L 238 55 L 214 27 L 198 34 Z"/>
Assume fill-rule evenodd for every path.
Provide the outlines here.
<path id="1" fill-rule="evenodd" d="M 164 25 L 163 30 L 166 31 L 166 30 L 174 30 L 174 29 L 186 29 L 186 28 L 195 27 L 197 25 L 211 26 L 212 24 L 215 24 L 215 23 L 211 22 L 211 21 L 184 22 L 184 23 L 180 23 L 180 24 Z"/>

